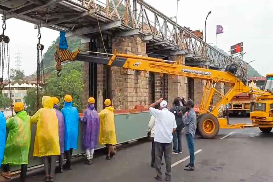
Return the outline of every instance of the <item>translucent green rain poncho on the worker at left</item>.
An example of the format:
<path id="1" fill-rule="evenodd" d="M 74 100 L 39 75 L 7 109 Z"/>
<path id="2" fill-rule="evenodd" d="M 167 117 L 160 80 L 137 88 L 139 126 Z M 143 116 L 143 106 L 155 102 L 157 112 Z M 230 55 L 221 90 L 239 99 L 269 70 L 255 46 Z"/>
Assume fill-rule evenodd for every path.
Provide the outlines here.
<path id="1" fill-rule="evenodd" d="M 7 119 L 9 130 L 2 164 L 28 164 L 31 142 L 31 122 L 27 112 L 21 111 Z"/>

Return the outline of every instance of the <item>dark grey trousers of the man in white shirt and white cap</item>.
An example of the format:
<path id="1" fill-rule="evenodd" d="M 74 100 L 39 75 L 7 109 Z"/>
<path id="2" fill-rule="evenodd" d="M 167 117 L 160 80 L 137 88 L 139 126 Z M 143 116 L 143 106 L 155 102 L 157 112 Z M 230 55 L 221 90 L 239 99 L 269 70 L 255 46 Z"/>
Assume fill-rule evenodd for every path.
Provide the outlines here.
<path id="1" fill-rule="evenodd" d="M 172 143 L 159 143 L 155 142 L 155 170 L 159 177 L 162 178 L 161 172 L 161 161 L 164 153 L 164 158 L 166 162 L 165 177 L 171 177 L 171 154 L 172 154 Z"/>

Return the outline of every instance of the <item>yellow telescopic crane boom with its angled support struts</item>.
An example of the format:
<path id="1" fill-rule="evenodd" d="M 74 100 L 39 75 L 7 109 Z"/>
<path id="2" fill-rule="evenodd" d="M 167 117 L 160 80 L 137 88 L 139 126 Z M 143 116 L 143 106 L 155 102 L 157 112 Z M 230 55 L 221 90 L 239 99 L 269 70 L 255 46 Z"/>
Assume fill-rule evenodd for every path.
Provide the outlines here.
<path id="1" fill-rule="evenodd" d="M 224 106 L 232 99 L 232 97 L 239 93 L 252 93 L 263 96 L 271 95 L 270 93 L 262 90 L 251 89 L 250 87 L 244 85 L 243 82 L 236 78 L 235 75 L 229 72 L 185 66 L 181 63 L 167 61 L 163 59 L 116 53 L 111 57 L 108 65 L 111 66 L 118 57 L 126 58 L 126 61 L 122 66 L 125 70 L 132 69 L 149 71 L 159 73 L 161 74 L 161 76 L 163 76 L 163 74 L 170 74 L 206 80 L 207 85 L 204 89 L 204 94 L 200 104 L 200 114 L 211 113 L 215 117 L 217 117 L 219 115 L 219 112 L 223 110 Z M 231 84 L 230 90 L 225 95 L 215 89 L 216 83 L 218 82 Z M 215 94 L 221 97 L 221 100 L 210 112 L 208 108 Z"/>

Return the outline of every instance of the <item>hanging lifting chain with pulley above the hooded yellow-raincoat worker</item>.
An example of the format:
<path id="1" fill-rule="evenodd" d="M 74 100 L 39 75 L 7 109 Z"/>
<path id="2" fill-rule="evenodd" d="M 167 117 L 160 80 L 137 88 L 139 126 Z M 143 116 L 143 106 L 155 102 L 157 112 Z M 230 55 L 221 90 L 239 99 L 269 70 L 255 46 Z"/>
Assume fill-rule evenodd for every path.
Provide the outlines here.
<path id="1" fill-rule="evenodd" d="M 43 44 L 40 44 L 40 39 L 41 39 L 41 22 L 38 22 L 38 44 L 37 44 L 37 84 L 36 84 L 36 103 L 37 103 L 37 110 L 39 109 L 39 105 L 40 105 L 40 82 L 44 82 L 45 85 L 45 77 L 44 77 L 44 65 L 43 65 Z M 42 72 L 41 72 L 42 69 Z M 41 79 L 40 79 L 40 74 L 43 74 Z M 45 91 L 47 92 L 46 88 Z"/>

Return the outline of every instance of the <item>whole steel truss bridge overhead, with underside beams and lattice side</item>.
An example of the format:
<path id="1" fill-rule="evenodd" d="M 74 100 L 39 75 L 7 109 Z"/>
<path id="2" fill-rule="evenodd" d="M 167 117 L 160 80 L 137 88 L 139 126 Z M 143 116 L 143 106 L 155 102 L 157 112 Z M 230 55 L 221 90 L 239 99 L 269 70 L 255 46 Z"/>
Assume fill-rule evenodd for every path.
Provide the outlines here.
<path id="1" fill-rule="evenodd" d="M 177 25 L 170 17 L 143 0 L 0 0 L 0 13 L 41 27 L 65 31 L 67 37 L 90 38 L 99 32 L 113 36 L 141 35 L 151 57 L 185 55 L 186 65 L 225 69 L 237 64 L 237 76 L 245 68 L 203 41 L 203 33 Z M 98 26 L 98 21 L 99 25 Z M 21 28 L 22 29 L 22 28 Z"/>

